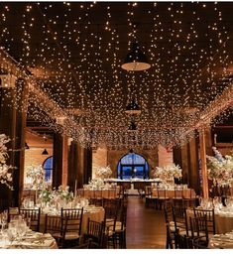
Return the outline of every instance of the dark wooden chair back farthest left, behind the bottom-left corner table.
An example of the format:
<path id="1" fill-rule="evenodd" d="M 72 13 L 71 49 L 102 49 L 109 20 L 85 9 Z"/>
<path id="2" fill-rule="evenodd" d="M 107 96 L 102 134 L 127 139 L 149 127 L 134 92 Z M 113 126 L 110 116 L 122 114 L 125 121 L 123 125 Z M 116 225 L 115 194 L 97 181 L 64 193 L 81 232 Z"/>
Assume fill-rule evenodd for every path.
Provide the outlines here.
<path id="1" fill-rule="evenodd" d="M 39 232 L 40 219 L 41 219 L 41 208 L 38 208 L 38 209 L 19 208 L 19 213 L 21 215 L 24 215 L 24 217 L 26 217 L 26 218 L 30 218 L 30 228 L 33 231 Z"/>

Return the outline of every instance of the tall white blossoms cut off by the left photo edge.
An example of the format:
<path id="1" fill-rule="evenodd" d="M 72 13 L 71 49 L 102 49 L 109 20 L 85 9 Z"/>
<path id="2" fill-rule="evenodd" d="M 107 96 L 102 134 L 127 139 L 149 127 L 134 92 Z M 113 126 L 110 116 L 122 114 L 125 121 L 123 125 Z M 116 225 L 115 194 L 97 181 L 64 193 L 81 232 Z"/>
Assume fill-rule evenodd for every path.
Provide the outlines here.
<path id="1" fill-rule="evenodd" d="M 10 190 L 13 191 L 13 187 L 10 185 L 12 182 L 12 170 L 13 166 L 8 166 L 6 161 L 8 159 L 6 144 L 10 139 L 5 134 L 0 134 L 0 183 L 5 184 Z"/>

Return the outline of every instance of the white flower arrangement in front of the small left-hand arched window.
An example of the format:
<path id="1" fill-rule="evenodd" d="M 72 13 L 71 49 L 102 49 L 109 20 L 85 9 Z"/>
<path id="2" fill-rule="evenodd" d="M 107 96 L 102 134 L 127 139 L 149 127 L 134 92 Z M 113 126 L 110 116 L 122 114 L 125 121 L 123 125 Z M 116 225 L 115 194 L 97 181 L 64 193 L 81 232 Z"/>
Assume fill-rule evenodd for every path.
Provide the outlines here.
<path id="1" fill-rule="evenodd" d="M 45 170 L 40 166 L 30 166 L 27 170 L 27 179 L 30 188 L 33 190 L 43 190 L 47 186 L 45 180 Z"/>

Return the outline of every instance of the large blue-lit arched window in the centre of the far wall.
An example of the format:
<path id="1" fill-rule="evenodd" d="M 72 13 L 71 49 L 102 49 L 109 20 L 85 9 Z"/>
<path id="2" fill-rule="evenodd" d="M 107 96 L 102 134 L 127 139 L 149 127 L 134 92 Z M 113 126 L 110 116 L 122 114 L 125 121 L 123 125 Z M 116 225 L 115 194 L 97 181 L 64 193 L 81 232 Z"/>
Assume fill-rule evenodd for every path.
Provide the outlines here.
<path id="1" fill-rule="evenodd" d="M 118 179 L 149 179 L 149 165 L 143 156 L 129 153 L 118 162 L 117 173 Z"/>

